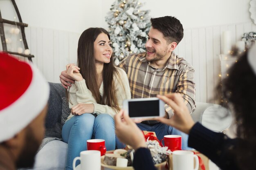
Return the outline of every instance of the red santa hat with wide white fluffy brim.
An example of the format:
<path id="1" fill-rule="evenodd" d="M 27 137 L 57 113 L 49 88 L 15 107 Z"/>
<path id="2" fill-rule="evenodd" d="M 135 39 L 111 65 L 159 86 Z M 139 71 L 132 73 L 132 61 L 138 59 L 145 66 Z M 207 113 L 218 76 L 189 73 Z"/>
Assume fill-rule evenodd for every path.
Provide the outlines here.
<path id="1" fill-rule="evenodd" d="M 0 52 L 0 143 L 11 139 L 47 104 L 49 84 L 32 63 Z"/>

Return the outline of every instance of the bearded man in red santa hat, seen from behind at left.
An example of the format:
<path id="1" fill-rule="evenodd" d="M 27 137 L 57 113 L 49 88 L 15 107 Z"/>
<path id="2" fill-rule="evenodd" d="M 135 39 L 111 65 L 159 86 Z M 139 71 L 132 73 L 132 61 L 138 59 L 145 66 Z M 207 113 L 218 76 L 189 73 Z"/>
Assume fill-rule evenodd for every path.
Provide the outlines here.
<path id="1" fill-rule="evenodd" d="M 31 168 L 45 133 L 49 85 L 32 64 L 0 53 L 0 170 Z"/>

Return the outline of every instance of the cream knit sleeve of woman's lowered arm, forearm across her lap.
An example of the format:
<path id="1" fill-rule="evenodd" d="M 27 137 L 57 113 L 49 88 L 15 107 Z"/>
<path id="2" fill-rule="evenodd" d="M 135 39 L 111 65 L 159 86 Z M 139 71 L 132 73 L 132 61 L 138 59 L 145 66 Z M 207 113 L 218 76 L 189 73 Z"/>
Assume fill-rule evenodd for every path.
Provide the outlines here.
<path id="1" fill-rule="evenodd" d="M 115 88 L 116 88 L 115 95 L 117 96 L 117 102 L 118 102 L 119 108 L 122 108 L 123 100 L 131 98 L 130 85 L 129 85 L 128 77 L 125 71 L 122 70 L 121 68 L 117 68 L 117 70 L 118 70 L 118 75 L 114 76 L 114 82 L 115 82 Z M 94 113 L 96 113 L 97 115 L 101 113 L 107 113 L 110 116 L 114 117 L 117 111 L 108 105 L 101 105 L 101 104 L 94 103 Z"/>

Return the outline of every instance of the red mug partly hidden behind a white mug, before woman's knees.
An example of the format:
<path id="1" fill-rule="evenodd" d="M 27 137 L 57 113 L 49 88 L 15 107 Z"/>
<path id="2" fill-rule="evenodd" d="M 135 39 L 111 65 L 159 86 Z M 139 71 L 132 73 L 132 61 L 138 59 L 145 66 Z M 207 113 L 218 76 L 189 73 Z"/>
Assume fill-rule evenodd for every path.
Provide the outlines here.
<path id="1" fill-rule="evenodd" d="M 87 140 L 87 150 L 99 150 L 101 151 L 101 156 L 106 153 L 106 146 L 104 139 L 90 139 Z"/>

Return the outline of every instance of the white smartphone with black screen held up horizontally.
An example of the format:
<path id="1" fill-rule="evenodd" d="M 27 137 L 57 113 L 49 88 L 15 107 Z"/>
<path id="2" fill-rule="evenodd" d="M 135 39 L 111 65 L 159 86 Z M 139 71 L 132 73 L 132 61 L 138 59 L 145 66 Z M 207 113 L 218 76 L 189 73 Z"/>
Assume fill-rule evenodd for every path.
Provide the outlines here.
<path id="1" fill-rule="evenodd" d="M 153 118 L 165 115 L 164 102 L 157 97 L 126 99 L 123 109 L 133 118 Z"/>

